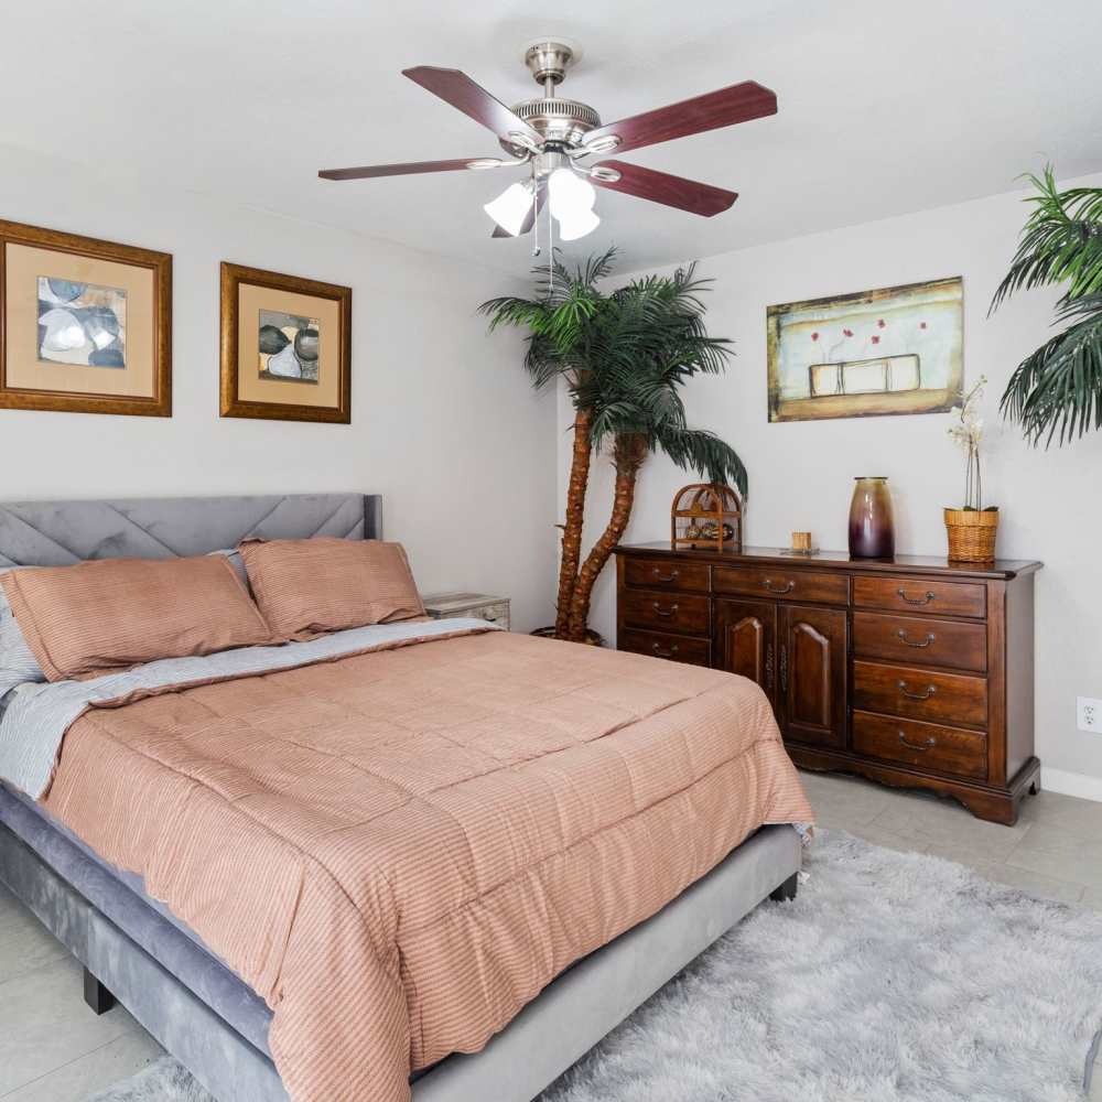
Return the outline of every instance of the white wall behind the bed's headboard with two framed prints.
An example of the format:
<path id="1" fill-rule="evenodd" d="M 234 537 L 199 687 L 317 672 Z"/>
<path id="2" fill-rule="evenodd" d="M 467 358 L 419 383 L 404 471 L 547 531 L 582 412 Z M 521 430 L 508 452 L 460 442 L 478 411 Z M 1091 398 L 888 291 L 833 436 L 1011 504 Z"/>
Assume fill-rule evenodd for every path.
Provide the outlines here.
<path id="1" fill-rule="evenodd" d="M 500 593 L 521 629 L 547 622 L 553 401 L 519 337 L 488 339 L 476 314 L 507 278 L 4 148 L 0 218 L 171 252 L 174 279 L 172 419 L 0 410 L 0 500 L 380 493 L 423 591 Z M 222 260 L 353 288 L 350 425 L 218 417 Z"/>

